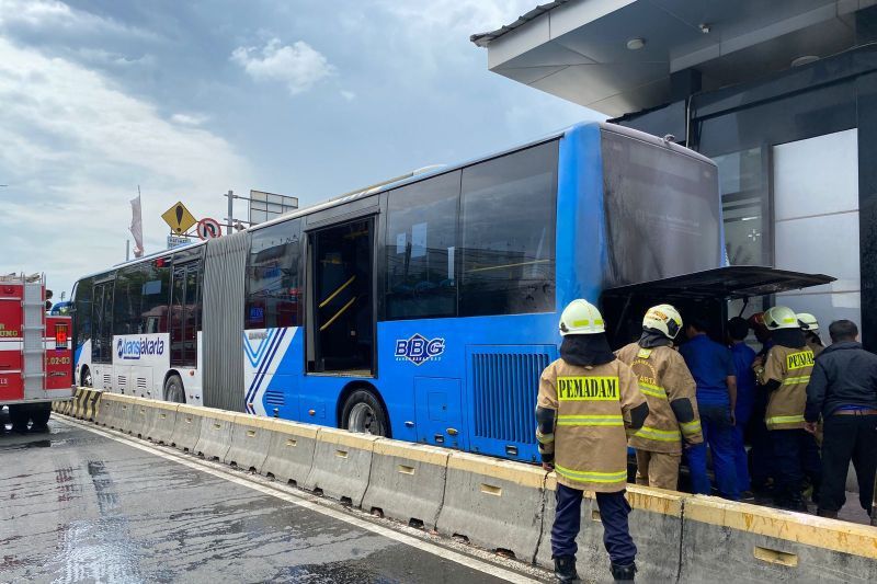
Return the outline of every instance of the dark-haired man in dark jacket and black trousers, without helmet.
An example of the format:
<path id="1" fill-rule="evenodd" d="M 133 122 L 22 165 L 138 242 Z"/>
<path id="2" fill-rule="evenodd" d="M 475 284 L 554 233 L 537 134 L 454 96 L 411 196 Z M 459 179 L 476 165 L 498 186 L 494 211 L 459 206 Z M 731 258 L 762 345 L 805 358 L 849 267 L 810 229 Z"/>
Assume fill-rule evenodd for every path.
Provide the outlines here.
<path id="1" fill-rule="evenodd" d="M 805 430 L 816 433 L 824 420 L 822 490 L 819 515 L 838 517 L 846 503 L 844 485 L 850 460 L 858 479 L 858 500 L 870 513 L 877 471 L 877 355 L 862 348 L 850 320 L 829 327 L 832 344 L 816 359 L 807 386 Z"/>

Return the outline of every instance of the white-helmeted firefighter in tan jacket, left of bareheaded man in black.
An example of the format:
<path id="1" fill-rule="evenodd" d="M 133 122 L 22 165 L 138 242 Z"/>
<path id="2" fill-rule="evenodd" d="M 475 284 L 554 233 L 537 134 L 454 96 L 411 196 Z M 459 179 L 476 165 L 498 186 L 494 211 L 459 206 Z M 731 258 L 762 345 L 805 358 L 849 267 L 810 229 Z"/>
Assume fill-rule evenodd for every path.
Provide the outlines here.
<path id="1" fill-rule="evenodd" d="M 813 352 L 807 347 L 798 317 L 790 308 L 775 306 L 766 310 L 764 324 L 774 345 L 756 374 L 767 392 L 764 423 L 771 434 L 776 465 L 774 497 L 779 507 L 808 511 L 802 495 L 804 478 L 810 479 L 815 496 L 821 481 L 816 439 L 804 430 Z"/>

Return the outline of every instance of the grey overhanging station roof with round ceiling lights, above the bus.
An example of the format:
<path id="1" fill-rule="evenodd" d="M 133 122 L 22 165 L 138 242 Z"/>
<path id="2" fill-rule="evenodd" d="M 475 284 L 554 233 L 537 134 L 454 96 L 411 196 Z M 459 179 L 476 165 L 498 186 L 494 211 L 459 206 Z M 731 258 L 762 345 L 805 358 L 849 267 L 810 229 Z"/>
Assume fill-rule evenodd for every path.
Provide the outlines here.
<path id="1" fill-rule="evenodd" d="M 470 38 L 488 49 L 491 71 L 616 116 L 670 102 L 676 71 L 698 71 L 710 90 L 851 48 L 855 13 L 874 4 L 557 0 Z"/>

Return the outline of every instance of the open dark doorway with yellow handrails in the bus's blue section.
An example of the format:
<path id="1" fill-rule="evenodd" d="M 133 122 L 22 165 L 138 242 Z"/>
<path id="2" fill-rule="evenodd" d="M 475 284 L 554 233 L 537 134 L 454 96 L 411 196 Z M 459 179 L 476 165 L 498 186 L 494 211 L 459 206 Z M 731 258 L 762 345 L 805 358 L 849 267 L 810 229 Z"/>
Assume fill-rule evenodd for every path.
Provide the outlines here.
<path id="1" fill-rule="evenodd" d="M 308 236 L 308 373 L 374 374 L 374 226 L 368 217 Z"/>

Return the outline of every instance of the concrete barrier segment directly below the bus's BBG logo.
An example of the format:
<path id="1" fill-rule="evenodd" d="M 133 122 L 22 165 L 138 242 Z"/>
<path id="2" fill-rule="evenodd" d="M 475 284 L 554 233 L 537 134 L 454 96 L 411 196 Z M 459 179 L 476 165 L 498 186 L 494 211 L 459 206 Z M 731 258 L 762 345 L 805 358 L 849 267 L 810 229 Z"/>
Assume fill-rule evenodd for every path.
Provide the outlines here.
<path id="1" fill-rule="evenodd" d="M 377 440 L 362 507 L 385 517 L 435 528 L 444 499 L 451 451 L 396 440 Z"/>

